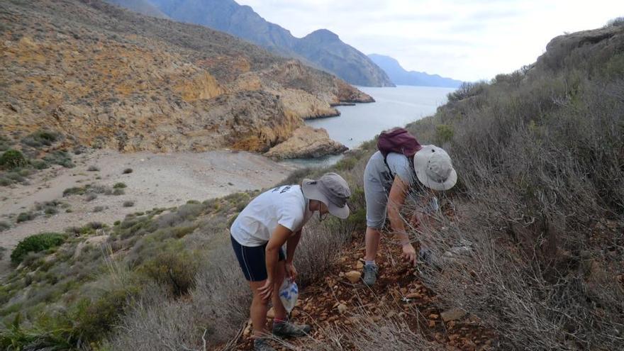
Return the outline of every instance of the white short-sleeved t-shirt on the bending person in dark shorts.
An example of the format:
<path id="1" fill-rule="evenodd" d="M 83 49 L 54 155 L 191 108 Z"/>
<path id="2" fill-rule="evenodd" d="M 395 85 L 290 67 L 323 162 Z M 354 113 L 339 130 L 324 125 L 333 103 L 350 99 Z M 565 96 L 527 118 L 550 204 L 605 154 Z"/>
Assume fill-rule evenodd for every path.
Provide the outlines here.
<path id="1" fill-rule="evenodd" d="M 278 224 L 296 233 L 311 217 L 301 186 L 283 185 L 253 199 L 238 214 L 230 233 L 240 245 L 255 247 L 268 243 Z"/>

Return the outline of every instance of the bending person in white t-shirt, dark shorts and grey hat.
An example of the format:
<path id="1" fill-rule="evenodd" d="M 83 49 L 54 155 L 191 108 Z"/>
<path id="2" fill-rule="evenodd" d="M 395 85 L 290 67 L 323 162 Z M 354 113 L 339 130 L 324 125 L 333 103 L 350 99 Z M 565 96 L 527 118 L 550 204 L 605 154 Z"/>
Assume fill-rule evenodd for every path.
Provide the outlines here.
<path id="1" fill-rule="evenodd" d="M 347 218 L 350 195 L 345 179 L 327 173 L 318 180 L 303 179 L 301 186 L 284 185 L 265 191 L 235 219 L 230 228 L 232 247 L 253 292 L 250 314 L 255 350 L 273 350 L 264 340 L 269 299 L 275 312 L 274 335 L 303 336 L 310 331 L 309 325 L 286 320 L 286 310 L 274 291 L 282 285 L 284 277 L 296 278 L 293 259 L 303 225 L 315 211 L 320 218 L 327 213 Z M 282 250 L 284 244 L 286 254 Z"/>

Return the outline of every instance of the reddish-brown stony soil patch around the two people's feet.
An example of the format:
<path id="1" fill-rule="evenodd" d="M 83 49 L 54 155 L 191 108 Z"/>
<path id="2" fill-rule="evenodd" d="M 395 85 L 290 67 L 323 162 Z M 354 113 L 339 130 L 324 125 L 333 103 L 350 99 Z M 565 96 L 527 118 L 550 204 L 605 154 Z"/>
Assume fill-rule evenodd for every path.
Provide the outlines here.
<path id="1" fill-rule="evenodd" d="M 363 241 L 362 236 L 354 236 L 340 259 L 327 270 L 328 274 L 299 291 L 299 300 L 291 317 L 296 323 L 313 326 L 311 338 L 288 340 L 289 347 L 274 343 L 277 350 L 310 350 L 313 348 L 310 345 L 314 344 L 324 345 L 323 350 L 360 350 L 345 335 L 358 335 L 355 330 L 362 326 L 372 330 L 385 328 L 381 327 L 384 321 L 392 321 L 394 325 L 403 325 L 405 330 L 423 335 L 420 342 L 429 342 L 428 349 L 432 345 L 440 350 L 494 349 L 494 333 L 482 327 L 476 317 L 467 315 L 448 319 L 450 314 L 442 313 L 435 293 L 420 282 L 416 269 L 404 262 L 399 247 L 391 242 L 382 240 L 376 260 L 380 275 L 372 289 L 364 286 L 361 280 L 350 282 L 347 272 L 362 271 Z M 270 322 L 269 318 L 267 322 Z M 252 350 L 250 327 L 247 323 L 236 350 Z M 405 333 L 405 330 L 392 333 Z M 418 340 L 413 342 L 414 350 L 417 350 Z"/>

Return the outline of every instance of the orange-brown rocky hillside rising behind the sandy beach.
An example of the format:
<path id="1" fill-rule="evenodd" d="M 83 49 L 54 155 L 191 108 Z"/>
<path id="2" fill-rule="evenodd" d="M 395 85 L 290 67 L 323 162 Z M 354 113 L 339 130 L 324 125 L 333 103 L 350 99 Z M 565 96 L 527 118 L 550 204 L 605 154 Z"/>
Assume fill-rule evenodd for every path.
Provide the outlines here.
<path id="1" fill-rule="evenodd" d="M 370 96 L 325 72 L 203 26 L 100 0 L 0 4 L 0 125 L 65 145 L 266 151 L 302 118 Z"/>

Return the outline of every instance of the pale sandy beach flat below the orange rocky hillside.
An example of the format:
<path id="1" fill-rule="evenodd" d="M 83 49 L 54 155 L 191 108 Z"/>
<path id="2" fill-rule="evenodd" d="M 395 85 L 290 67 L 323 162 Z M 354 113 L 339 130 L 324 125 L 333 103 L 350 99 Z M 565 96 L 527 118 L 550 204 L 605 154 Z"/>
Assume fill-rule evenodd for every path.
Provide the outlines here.
<path id="1" fill-rule="evenodd" d="M 179 206 L 189 200 L 204 201 L 235 191 L 262 189 L 282 181 L 294 169 L 249 152 L 218 150 L 202 153 L 179 152 L 120 154 L 96 150 L 74 156 L 76 167 L 55 166 L 38 172 L 29 185 L 0 187 L 0 221 L 11 228 L 0 232 L 0 247 L 7 250 L 0 260 L 0 277 L 10 272 L 10 250 L 19 240 L 42 231 L 62 231 L 91 221 L 108 223 L 128 213 L 155 207 Z M 99 171 L 89 172 L 90 166 Z M 124 169 L 132 169 L 123 174 Z M 87 201 L 84 195 L 63 197 L 73 186 L 97 184 L 109 188 L 126 184 L 120 196 L 98 194 Z M 32 221 L 16 223 L 18 213 L 30 211 L 36 203 L 60 199 L 71 209 L 59 208 L 52 216 L 41 215 Z M 133 201 L 134 206 L 123 203 Z M 96 210 L 97 208 L 97 210 Z"/>

